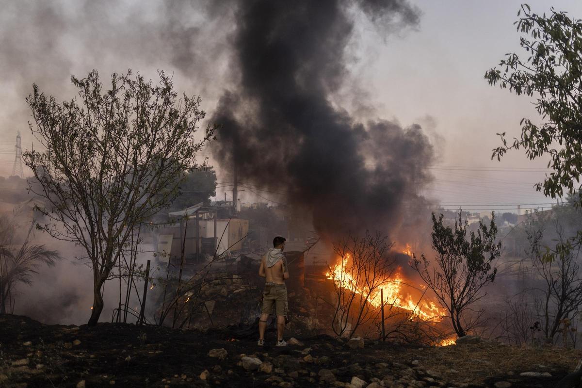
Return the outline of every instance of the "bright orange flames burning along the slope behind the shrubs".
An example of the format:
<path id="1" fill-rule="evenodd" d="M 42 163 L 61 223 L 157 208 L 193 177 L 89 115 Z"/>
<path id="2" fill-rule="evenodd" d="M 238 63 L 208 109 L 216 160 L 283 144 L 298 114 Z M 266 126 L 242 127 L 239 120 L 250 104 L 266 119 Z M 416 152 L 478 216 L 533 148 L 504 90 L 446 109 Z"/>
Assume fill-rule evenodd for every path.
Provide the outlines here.
<path id="1" fill-rule="evenodd" d="M 406 247 L 410 250 L 410 245 L 407 244 Z M 364 298 L 367 297 L 368 302 L 375 308 L 381 307 L 381 294 L 384 294 L 385 306 L 393 305 L 406 309 L 423 321 L 440 321 L 445 315 L 434 302 L 414 300 L 410 294 L 404 296 L 402 284 L 406 283 L 403 281 L 400 268 L 390 279 L 378 279 L 378 281 L 374 282 L 379 285 L 372 287 L 372 291 L 370 291 L 370 287 L 365 285 L 367 283 L 365 279 L 362 280 L 358 276 L 356 266 L 350 265 L 351 259 L 351 256 L 346 254 L 339 264 L 333 266 L 331 272 L 328 271 L 325 276 L 328 279 L 332 279 L 336 286 L 352 291 L 354 294 L 360 294 Z M 422 297 L 419 299 L 422 299 Z"/>

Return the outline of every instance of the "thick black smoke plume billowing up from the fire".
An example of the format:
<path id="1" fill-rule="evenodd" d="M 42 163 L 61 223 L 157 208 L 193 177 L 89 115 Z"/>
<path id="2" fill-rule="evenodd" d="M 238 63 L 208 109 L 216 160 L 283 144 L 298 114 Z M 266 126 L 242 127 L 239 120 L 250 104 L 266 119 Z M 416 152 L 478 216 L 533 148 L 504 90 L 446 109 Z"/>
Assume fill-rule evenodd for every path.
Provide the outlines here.
<path id="1" fill-rule="evenodd" d="M 420 126 L 361 123 L 332 104 L 347 76 L 354 15 L 382 31 L 419 19 L 404 0 L 241 1 L 231 65 L 239 81 L 213 118 L 222 167 L 236 168 L 243 184 L 283 192 L 324 237 L 396 229 L 434 158 Z"/>

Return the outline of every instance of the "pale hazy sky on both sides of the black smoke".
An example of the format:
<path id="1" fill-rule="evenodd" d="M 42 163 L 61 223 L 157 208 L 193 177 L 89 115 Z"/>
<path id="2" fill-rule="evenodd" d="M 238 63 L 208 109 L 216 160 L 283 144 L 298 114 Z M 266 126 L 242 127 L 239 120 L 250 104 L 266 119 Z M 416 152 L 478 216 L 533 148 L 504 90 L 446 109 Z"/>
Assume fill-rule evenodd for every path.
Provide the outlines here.
<path id="1" fill-rule="evenodd" d="M 491 149 L 499 144 L 495 133 L 517 136 L 520 119 L 535 118 L 527 97 L 483 79 L 505 53 L 519 48 L 513 22 L 520 2 L 411 2 L 422 12 L 417 30 L 380 35 L 369 22 L 357 23 L 351 74 L 337 103 L 356 111 L 361 106 L 354 100 L 364 96 L 360 118 L 420 123 L 430 133 L 439 160 L 433 168 L 437 180 L 426 194 L 435 204 L 515 211 L 516 204 L 553 202 L 533 188 L 544 177 L 546 161 L 528 161 L 521 151 L 501 163 L 491 161 Z M 17 130 L 24 149 L 33 143 L 24 102 L 33 82 L 70 99 L 71 74 L 98 69 L 107 80 L 112 72 L 132 68 L 153 78 L 156 69 L 164 69 L 175 74 L 176 90 L 200 94 L 212 113 L 229 84 L 232 15 L 208 7 L 202 13 L 189 3 L 0 0 L 0 175 L 12 172 Z M 529 4 L 534 12 L 553 5 L 582 18 L 579 1 Z M 225 188 L 218 189 L 219 198 Z M 243 201 L 257 200 L 242 194 Z"/>

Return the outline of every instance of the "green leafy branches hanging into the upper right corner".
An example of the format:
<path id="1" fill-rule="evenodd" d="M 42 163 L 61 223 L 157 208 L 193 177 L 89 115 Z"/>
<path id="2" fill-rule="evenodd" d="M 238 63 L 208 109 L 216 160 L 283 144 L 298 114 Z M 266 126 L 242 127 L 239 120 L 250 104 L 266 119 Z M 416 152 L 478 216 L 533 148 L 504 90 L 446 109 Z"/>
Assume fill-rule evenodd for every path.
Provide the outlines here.
<path id="1" fill-rule="evenodd" d="M 527 59 L 515 53 L 485 73 L 489 84 L 499 84 L 517 95 L 535 97 L 535 108 L 545 120 L 536 124 L 521 120 L 521 137 L 503 145 L 492 157 L 500 159 L 509 149 L 524 148 L 528 158 L 548 155 L 553 172 L 537 190 L 546 196 L 562 197 L 563 188 L 579 190 L 582 175 L 582 20 L 551 9 L 549 15 L 532 13 L 524 4 L 515 23 Z M 523 57 L 525 58 L 525 56 Z M 581 204 L 581 202 L 579 202 Z"/>

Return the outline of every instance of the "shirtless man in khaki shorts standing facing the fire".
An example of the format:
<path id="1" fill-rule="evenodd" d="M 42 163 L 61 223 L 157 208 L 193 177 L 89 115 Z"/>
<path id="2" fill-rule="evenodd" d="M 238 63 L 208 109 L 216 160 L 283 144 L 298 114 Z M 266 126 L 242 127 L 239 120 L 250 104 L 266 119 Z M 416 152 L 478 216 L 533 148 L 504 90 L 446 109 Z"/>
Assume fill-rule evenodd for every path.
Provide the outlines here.
<path id="1" fill-rule="evenodd" d="M 265 277 L 265 291 L 262 293 L 261 318 L 258 321 L 258 346 L 265 344 L 265 329 L 267 329 L 267 318 L 275 305 L 277 315 L 277 344 L 276 346 L 287 346 L 283 340 L 283 329 L 285 329 L 285 319 L 287 318 L 287 287 L 285 280 L 289 279 L 283 249 L 285 239 L 281 236 L 275 237 L 273 247 L 261 259 L 261 266 L 258 269 L 258 276 Z"/>

